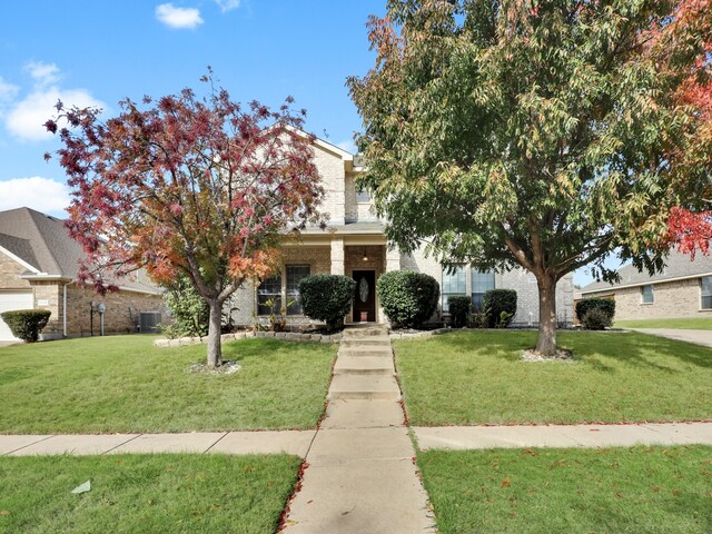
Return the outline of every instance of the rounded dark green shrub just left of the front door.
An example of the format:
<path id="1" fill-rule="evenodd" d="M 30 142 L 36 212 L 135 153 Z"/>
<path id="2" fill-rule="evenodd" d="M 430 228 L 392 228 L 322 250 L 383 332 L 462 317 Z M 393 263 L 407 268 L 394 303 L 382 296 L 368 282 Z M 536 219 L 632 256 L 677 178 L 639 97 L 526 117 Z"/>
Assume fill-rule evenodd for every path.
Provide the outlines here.
<path id="1" fill-rule="evenodd" d="M 340 275 L 305 276 L 299 281 L 299 299 L 304 315 L 326 322 L 334 330 L 344 324 L 350 312 L 356 291 L 356 280 Z"/>

